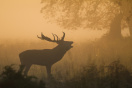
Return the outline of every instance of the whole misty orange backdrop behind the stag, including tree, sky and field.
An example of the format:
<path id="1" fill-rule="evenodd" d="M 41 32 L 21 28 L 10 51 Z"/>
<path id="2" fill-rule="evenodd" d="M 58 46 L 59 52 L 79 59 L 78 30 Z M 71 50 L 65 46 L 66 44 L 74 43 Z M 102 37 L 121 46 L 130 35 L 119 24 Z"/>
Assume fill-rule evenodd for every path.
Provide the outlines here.
<path id="1" fill-rule="evenodd" d="M 9 64 L 19 65 L 22 51 L 57 45 L 38 39 L 41 32 L 52 38 L 52 33 L 60 37 L 64 31 L 65 40 L 74 41 L 74 47 L 53 65 L 52 74 L 57 79 L 76 76 L 89 64 L 108 65 L 115 60 L 131 70 L 129 3 L 130 0 L 0 1 L 1 69 Z M 43 78 L 45 71 L 45 67 L 34 65 L 29 75 Z"/>

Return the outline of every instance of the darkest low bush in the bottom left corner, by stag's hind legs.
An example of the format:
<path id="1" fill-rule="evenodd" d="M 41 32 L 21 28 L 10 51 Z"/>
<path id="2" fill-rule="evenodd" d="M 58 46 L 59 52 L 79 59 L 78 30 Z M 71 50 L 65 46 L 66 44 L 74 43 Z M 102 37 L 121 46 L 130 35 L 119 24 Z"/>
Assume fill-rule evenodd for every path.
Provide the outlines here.
<path id="1" fill-rule="evenodd" d="M 0 75 L 0 88 L 45 88 L 43 81 L 37 82 L 34 76 L 24 76 L 23 66 L 18 71 L 14 70 L 13 65 L 5 66 Z"/>

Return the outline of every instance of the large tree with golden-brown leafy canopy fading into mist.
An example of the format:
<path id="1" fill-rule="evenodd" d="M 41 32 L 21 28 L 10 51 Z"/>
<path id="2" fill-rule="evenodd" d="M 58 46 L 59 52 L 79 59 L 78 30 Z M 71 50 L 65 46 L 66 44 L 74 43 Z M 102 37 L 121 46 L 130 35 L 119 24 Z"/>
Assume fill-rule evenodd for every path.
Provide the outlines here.
<path id="1" fill-rule="evenodd" d="M 121 28 L 129 27 L 132 33 L 132 0 L 42 0 L 41 3 L 44 17 L 66 29 L 110 29 L 110 35 L 120 36 Z M 118 29 L 112 27 L 117 19 Z"/>

